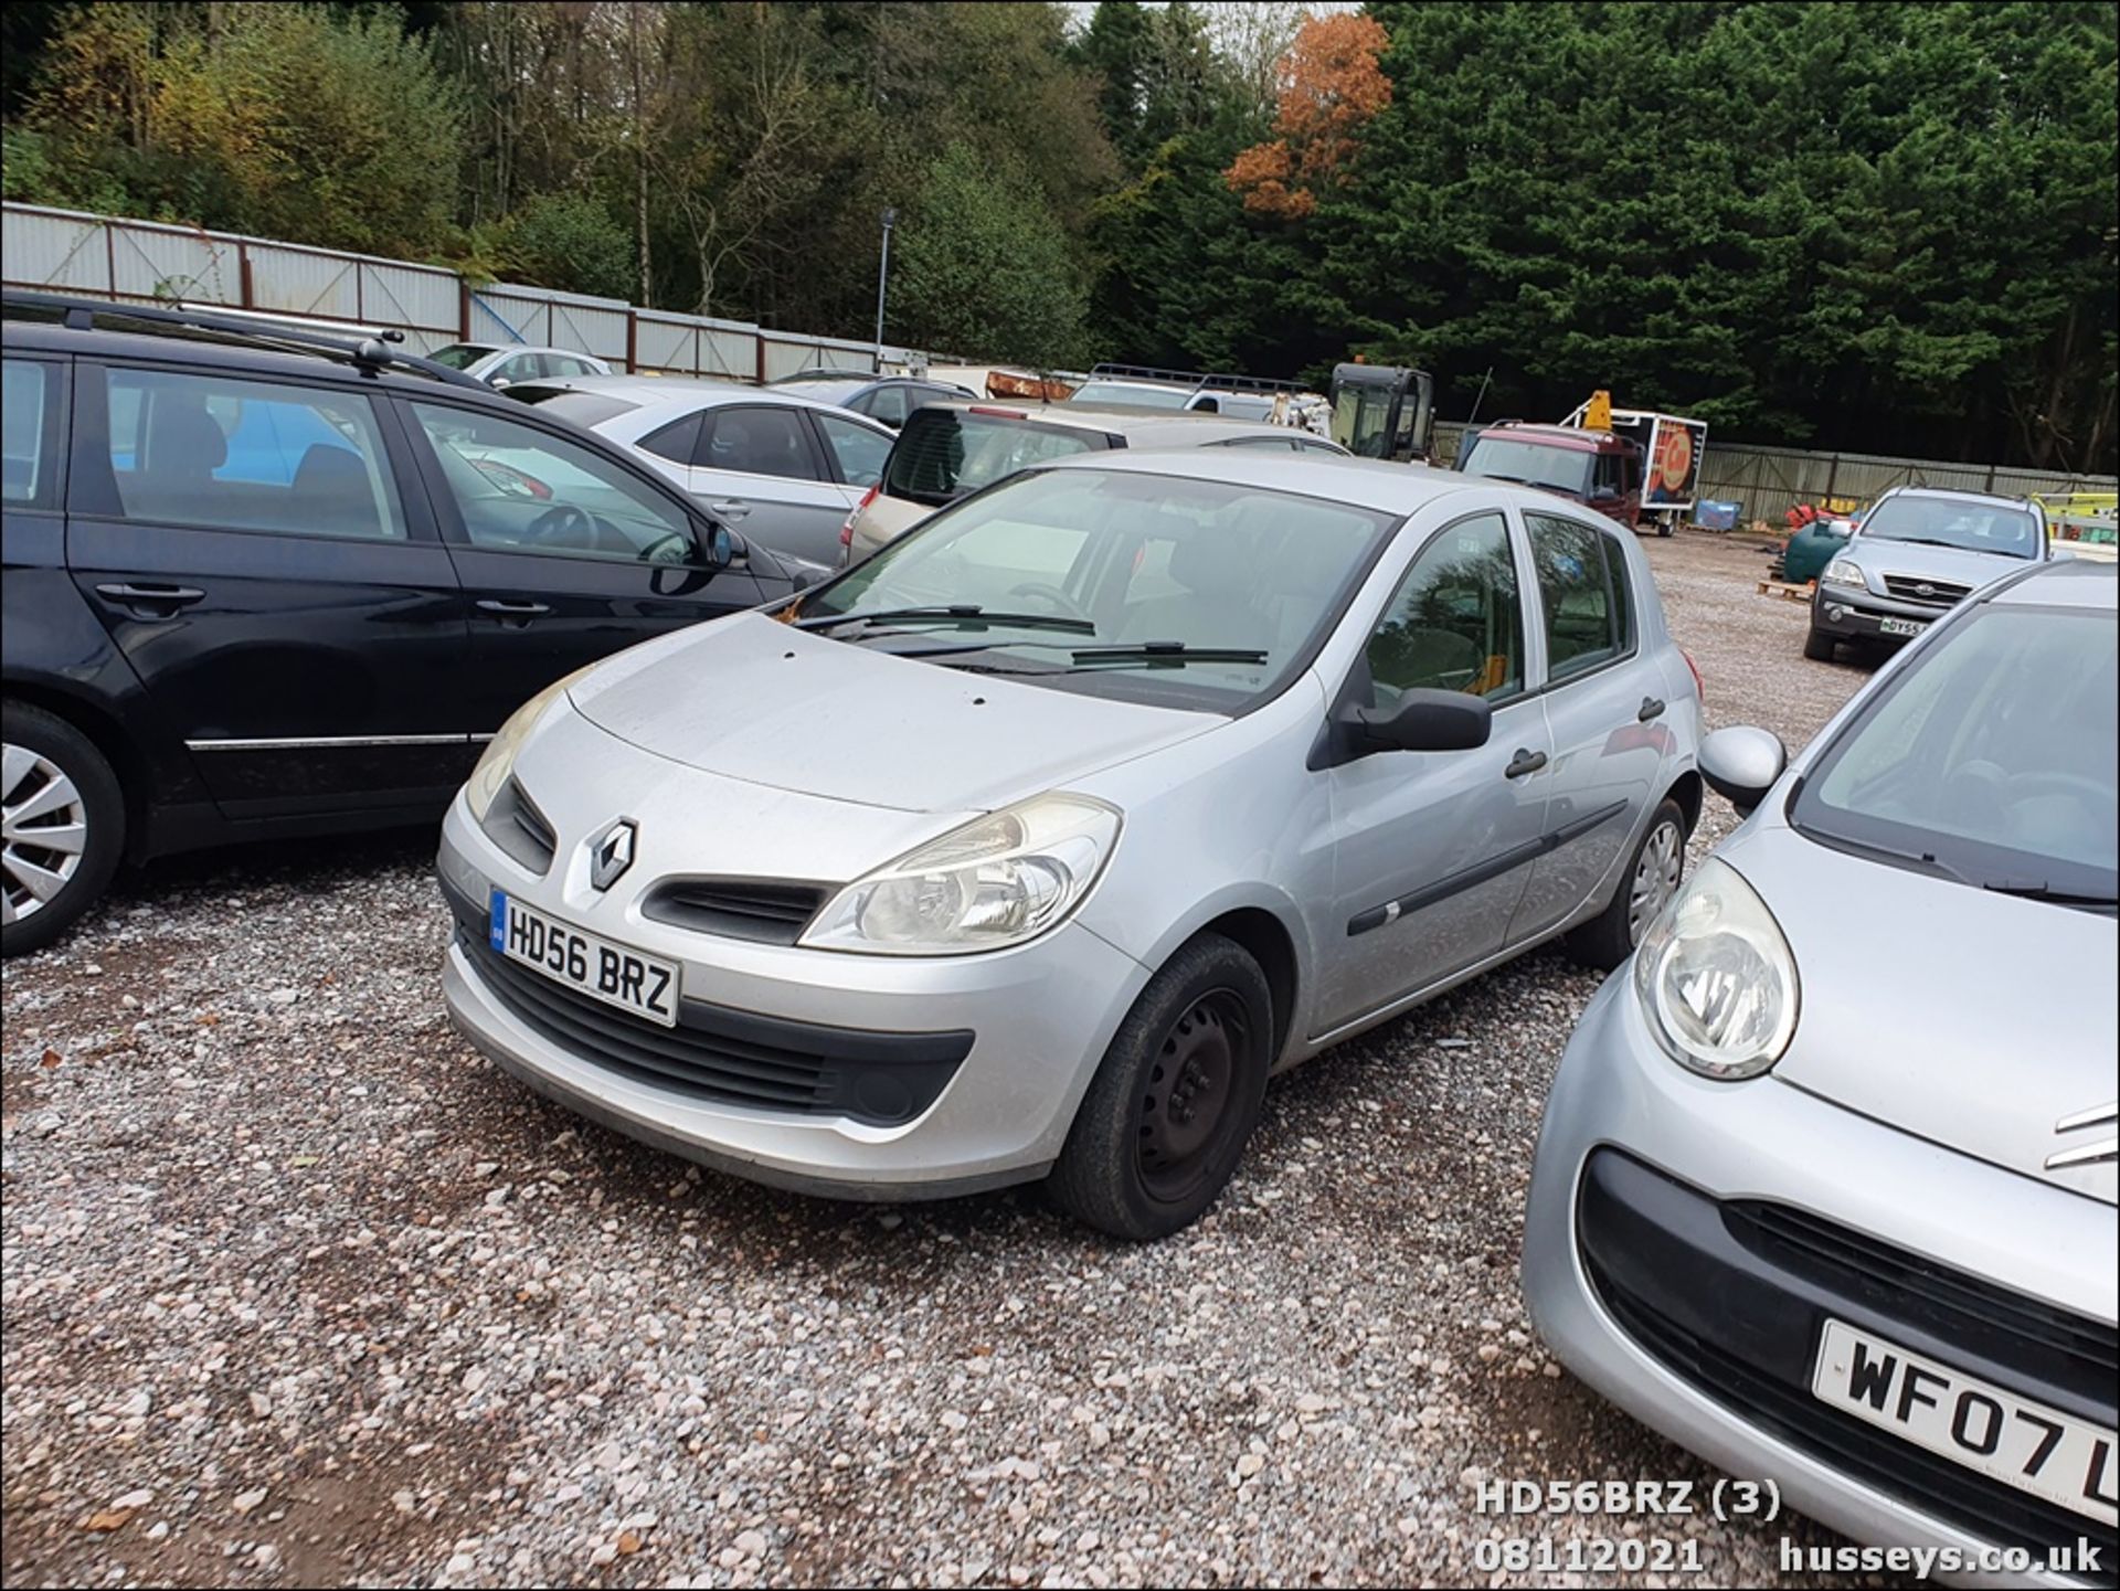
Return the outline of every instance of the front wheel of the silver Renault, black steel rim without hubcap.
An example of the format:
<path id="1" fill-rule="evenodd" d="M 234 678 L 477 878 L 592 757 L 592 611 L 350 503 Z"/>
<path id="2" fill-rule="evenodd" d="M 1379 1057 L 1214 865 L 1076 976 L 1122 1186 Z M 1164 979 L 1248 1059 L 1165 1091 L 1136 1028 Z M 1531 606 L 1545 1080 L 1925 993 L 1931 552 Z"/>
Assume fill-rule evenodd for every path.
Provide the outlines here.
<path id="1" fill-rule="evenodd" d="M 1047 1186 L 1077 1220 L 1149 1241 L 1223 1191 L 1259 1121 L 1274 1000 L 1221 934 L 1179 947 L 1126 1013 Z"/>

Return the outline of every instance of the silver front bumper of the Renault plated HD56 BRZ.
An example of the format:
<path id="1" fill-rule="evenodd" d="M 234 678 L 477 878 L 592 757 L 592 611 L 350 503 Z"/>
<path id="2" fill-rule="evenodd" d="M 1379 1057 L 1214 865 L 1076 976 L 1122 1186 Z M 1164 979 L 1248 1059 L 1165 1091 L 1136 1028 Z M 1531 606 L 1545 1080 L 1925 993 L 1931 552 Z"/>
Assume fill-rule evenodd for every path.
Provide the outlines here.
<path id="1" fill-rule="evenodd" d="M 1149 977 L 1079 924 L 1013 951 L 935 960 L 761 945 L 638 913 L 596 926 L 681 964 L 681 1030 L 657 1032 L 485 947 L 496 886 L 575 915 L 462 799 L 443 822 L 437 873 L 458 917 L 443 994 L 479 1051 L 617 1131 L 803 1193 L 916 1199 L 1043 1176 Z M 685 1063 L 687 1040 L 706 1047 L 706 1072 L 670 1066 Z"/>

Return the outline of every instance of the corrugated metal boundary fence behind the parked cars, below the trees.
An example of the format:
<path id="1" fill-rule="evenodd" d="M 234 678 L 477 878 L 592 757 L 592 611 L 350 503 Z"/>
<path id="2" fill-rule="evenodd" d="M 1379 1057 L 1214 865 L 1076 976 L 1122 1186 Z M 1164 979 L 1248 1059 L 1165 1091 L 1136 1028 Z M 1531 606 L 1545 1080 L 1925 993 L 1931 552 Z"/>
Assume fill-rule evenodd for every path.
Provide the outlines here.
<path id="1" fill-rule="evenodd" d="M 833 364 L 867 369 L 876 352 L 869 343 L 842 337 L 803 337 L 744 320 L 636 309 L 619 299 L 505 284 L 473 288 L 439 265 L 21 203 L 0 205 L 0 275 L 11 288 L 140 301 L 174 297 L 358 326 L 396 326 L 405 333 L 407 347 L 420 354 L 466 341 L 538 343 L 596 354 L 625 371 L 736 381 L 772 381 Z M 884 347 L 886 369 L 924 364 L 924 354 Z M 1444 462 L 1456 458 L 1463 430 L 1461 424 L 1437 422 L 1435 443 Z M 2109 475 L 1747 447 L 1717 443 L 1711 432 L 1700 496 L 1738 502 L 1741 523 L 1768 519 L 1779 525 L 1781 515 L 1798 502 L 1844 498 L 1849 504 L 1866 504 L 1895 485 L 2014 494 L 2116 489 Z"/>

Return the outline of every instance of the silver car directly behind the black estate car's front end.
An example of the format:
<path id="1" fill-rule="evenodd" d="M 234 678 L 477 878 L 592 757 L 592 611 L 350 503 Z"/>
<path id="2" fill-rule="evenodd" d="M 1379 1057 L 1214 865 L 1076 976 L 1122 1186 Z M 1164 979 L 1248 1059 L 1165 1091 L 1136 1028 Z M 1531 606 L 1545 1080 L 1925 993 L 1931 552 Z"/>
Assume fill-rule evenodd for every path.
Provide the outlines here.
<path id="1" fill-rule="evenodd" d="M 897 432 L 789 388 L 678 375 L 604 375 L 517 386 L 534 403 L 674 481 L 719 523 L 818 570 L 884 472 Z"/>

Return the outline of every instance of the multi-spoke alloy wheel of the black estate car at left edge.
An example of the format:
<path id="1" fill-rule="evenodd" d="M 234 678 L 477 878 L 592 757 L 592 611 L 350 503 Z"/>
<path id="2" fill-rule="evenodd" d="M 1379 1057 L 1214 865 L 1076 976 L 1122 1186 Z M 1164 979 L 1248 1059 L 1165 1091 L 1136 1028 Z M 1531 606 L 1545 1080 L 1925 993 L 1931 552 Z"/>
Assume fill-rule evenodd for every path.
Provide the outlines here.
<path id="1" fill-rule="evenodd" d="M 125 799 L 93 741 L 42 708 L 0 705 L 0 955 L 42 949 L 110 883 Z"/>

